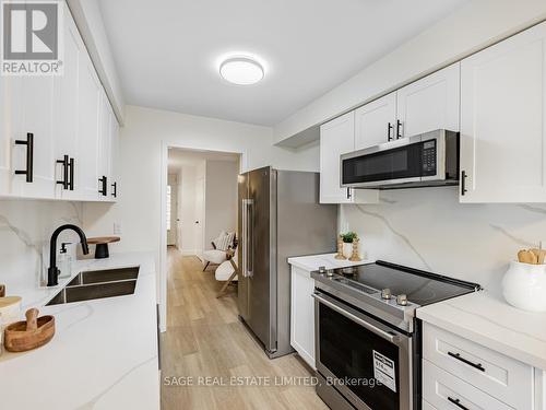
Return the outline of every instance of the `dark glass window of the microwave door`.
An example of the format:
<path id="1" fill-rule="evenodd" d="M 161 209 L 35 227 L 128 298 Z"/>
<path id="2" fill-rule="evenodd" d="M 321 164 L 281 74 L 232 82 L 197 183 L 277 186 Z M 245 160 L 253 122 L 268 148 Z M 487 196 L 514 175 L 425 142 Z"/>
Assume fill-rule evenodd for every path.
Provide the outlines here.
<path id="1" fill-rule="evenodd" d="M 343 161 L 343 184 L 420 177 L 423 144 L 408 145 L 355 156 Z"/>

